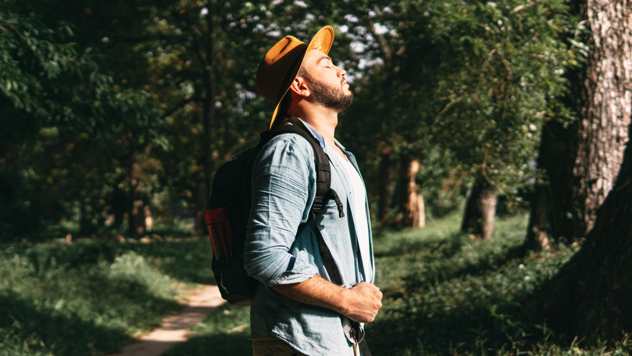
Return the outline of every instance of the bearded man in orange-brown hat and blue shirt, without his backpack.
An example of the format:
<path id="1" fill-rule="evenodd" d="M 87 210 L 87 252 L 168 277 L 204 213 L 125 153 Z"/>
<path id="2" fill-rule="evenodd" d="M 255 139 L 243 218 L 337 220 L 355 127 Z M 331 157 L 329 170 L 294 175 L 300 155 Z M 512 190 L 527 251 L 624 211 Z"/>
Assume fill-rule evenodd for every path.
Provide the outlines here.
<path id="1" fill-rule="evenodd" d="M 382 307 L 373 283 L 374 259 L 365 187 L 353 155 L 334 138 L 337 115 L 353 101 L 345 71 L 327 56 L 334 31 L 322 28 L 305 44 L 284 37 L 257 71 L 257 91 L 276 104 L 270 128 L 300 118 L 331 164 L 331 188 L 344 217 L 329 200 L 314 218 L 316 192 L 312 145 L 295 133 L 272 138 L 252 172 L 252 209 L 244 265 L 261 284 L 250 324 L 254 355 L 353 355 L 346 318 L 372 322 Z M 290 125 L 287 124 L 286 125 Z M 299 229 L 301 224 L 304 228 Z M 344 285 L 332 283 L 321 259 L 322 235 Z M 355 284 L 357 283 L 357 284 Z"/>

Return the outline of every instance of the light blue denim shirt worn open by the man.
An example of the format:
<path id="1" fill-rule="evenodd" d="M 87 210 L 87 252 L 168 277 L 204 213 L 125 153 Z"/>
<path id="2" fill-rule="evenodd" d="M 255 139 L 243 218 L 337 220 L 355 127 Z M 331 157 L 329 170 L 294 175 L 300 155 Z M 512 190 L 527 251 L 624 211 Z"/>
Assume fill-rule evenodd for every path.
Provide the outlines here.
<path id="1" fill-rule="evenodd" d="M 343 203 L 344 218 L 339 218 L 336 203 L 329 200 L 313 221 L 310 209 L 316 194 L 316 168 L 312 145 L 305 138 L 284 133 L 262 148 L 253 165 L 244 254 L 246 271 L 261 282 L 250 308 L 250 326 L 253 337 L 275 335 L 306 355 L 353 355 L 340 314 L 296 302 L 270 288 L 300 283 L 315 274 L 331 281 L 320 258 L 316 229 L 331 250 L 343 283 L 365 281 L 349 202 L 350 180 L 338 160 L 332 161 L 336 152 L 325 145 L 322 135 L 308 128 L 330 157 L 331 188 Z M 357 169 L 353 155 L 340 147 Z M 368 220 L 368 205 L 365 209 Z M 299 225 L 306 222 L 297 235 Z M 370 231 L 368 236 L 370 264 L 375 270 Z"/>

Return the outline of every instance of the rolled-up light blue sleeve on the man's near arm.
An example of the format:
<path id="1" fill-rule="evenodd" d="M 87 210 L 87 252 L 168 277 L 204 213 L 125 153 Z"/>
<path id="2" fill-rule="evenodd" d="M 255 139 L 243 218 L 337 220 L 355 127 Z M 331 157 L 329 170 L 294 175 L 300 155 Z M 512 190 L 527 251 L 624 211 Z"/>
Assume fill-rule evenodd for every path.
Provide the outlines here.
<path id="1" fill-rule="evenodd" d="M 255 159 L 244 266 L 267 286 L 300 283 L 318 273 L 305 251 L 289 252 L 298 226 L 309 216 L 312 181 L 313 151 L 305 138 L 279 135 Z"/>

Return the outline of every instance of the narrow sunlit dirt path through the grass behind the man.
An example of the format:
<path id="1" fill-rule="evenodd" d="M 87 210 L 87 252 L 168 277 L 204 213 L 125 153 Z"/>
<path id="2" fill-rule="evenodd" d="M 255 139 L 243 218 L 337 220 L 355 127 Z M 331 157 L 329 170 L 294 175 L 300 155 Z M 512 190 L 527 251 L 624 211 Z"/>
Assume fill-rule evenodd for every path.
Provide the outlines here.
<path id="1" fill-rule="evenodd" d="M 189 329 L 210 312 L 224 304 L 217 286 L 202 286 L 186 300 L 186 307 L 173 316 L 162 319 L 160 328 L 142 336 L 137 343 L 123 348 L 115 356 L 159 356 L 177 343 L 186 341 Z"/>

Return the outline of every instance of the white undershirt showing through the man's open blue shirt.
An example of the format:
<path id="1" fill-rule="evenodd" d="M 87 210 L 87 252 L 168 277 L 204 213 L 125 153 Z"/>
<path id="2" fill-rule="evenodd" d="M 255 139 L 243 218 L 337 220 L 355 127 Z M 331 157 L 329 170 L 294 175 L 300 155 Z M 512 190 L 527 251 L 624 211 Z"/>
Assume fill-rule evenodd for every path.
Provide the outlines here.
<path id="1" fill-rule="evenodd" d="M 336 155 L 337 156 L 337 155 Z M 337 156 L 342 161 L 342 167 L 349 178 L 349 191 L 351 197 L 349 197 L 349 205 L 351 206 L 351 214 L 353 221 L 355 222 L 355 230 L 358 235 L 358 247 L 360 250 L 360 256 L 362 260 L 362 266 L 364 268 L 364 274 L 366 281 L 373 279 L 373 266 L 371 263 L 370 244 L 368 241 L 368 219 L 367 219 L 367 193 L 364 188 L 364 183 L 360 174 L 355 169 L 353 164 L 348 159 L 343 159 Z"/>

